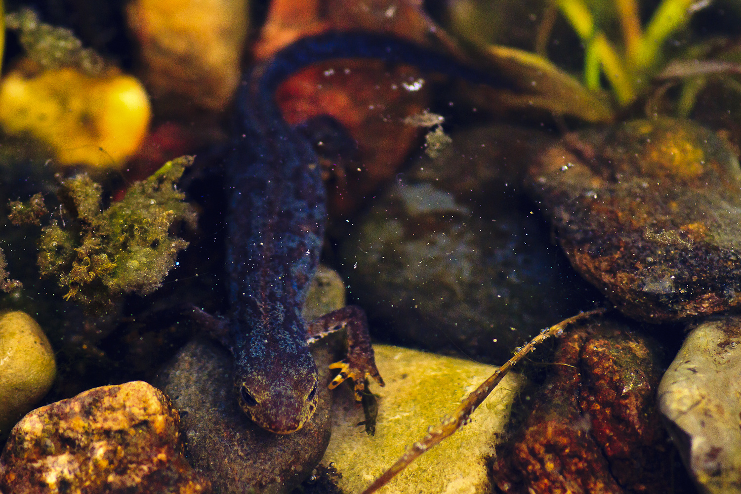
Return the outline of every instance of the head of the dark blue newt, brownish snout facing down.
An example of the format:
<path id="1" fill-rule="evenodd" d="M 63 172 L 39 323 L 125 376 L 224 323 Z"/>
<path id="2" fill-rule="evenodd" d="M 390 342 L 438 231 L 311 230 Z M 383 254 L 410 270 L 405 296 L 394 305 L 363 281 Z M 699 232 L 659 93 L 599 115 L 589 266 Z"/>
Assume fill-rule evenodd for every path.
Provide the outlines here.
<path id="1" fill-rule="evenodd" d="M 239 405 L 263 429 L 295 433 L 314 414 L 319 395 L 319 375 L 308 346 L 274 333 L 250 340 L 235 361 Z"/>

